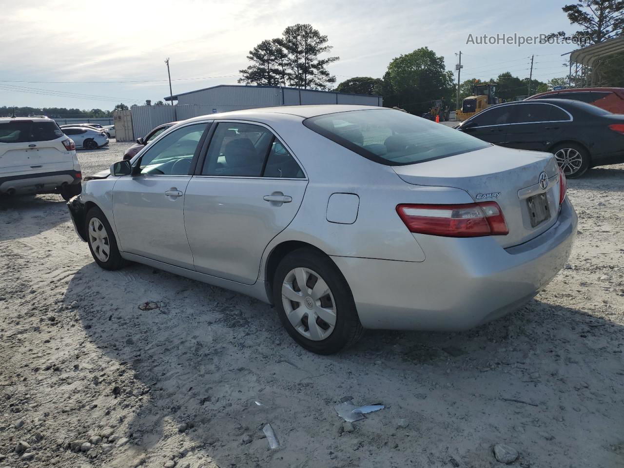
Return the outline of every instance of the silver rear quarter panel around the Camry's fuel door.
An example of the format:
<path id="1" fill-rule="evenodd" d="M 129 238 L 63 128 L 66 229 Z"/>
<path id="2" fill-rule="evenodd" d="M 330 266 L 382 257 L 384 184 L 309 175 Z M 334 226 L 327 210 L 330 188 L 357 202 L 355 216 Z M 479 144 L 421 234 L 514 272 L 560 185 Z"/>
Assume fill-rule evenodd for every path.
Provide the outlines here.
<path id="1" fill-rule="evenodd" d="M 293 222 L 266 247 L 263 265 L 275 246 L 291 240 L 310 243 L 333 256 L 424 261 L 425 253 L 399 218 L 396 205 L 473 201 L 468 193 L 457 188 L 406 183 L 391 167 L 372 162 L 314 133 L 301 120 L 295 117 L 287 122 L 283 116 L 273 122 L 270 118 L 263 120 L 291 147 L 310 180 Z M 328 201 L 333 193 L 358 195 L 354 223 L 327 220 Z"/>

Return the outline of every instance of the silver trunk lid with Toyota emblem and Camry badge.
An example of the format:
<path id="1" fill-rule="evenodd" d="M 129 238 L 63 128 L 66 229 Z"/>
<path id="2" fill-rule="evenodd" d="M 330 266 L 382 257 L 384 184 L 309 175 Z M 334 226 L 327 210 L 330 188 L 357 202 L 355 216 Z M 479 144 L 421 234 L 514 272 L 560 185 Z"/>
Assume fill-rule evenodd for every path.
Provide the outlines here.
<path id="1" fill-rule="evenodd" d="M 529 241 L 557 220 L 559 173 L 551 154 L 493 145 L 392 168 L 413 185 L 461 188 L 475 202 L 497 202 L 509 227 L 509 234 L 494 236 L 503 247 Z M 545 188 L 544 181 L 540 185 L 542 172 L 548 180 Z"/>

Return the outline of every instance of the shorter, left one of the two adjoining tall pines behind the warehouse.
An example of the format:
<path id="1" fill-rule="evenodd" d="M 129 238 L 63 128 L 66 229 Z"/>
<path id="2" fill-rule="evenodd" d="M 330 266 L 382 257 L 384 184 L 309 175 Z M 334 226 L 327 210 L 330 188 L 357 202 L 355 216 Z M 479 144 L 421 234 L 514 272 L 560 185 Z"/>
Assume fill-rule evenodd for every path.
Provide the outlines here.
<path id="1" fill-rule="evenodd" d="M 280 50 L 275 39 L 262 41 L 249 51 L 247 59 L 251 65 L 239 72 L 243 75 L 239 83 L 276 86 L 283 83 L 283 59 L 285 53 Z"/>

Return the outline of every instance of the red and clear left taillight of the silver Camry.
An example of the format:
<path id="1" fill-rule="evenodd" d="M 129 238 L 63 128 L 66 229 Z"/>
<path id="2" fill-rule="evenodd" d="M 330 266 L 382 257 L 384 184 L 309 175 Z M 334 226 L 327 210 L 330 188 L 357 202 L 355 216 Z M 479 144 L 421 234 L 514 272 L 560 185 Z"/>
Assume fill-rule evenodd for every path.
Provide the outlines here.
<path id="1" fill-rule="evenodd" d="M 446 237 L 504 236 L 507 223 L 496 202 L 465 205 L 397 205 L 410 232 Z"/>

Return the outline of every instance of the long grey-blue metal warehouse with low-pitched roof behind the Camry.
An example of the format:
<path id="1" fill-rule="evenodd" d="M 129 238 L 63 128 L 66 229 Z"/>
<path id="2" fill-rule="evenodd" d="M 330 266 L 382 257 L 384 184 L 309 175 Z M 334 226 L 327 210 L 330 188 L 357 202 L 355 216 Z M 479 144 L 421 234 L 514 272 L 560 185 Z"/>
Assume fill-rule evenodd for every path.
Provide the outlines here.
<path id="1" fill-rule="evenodd" d="M 172 100 L 165 97 L 165 100 Z M 200 105 L 210 113 L 253 107 L 308 104 L 383 105 L 381 96 L 346 94 L 316 89 L 298 89 L 283 86 L 218 85 L 173 96 L 178 105 Z"/>

